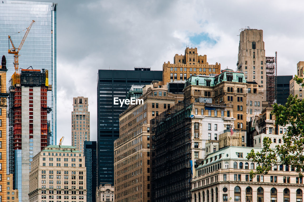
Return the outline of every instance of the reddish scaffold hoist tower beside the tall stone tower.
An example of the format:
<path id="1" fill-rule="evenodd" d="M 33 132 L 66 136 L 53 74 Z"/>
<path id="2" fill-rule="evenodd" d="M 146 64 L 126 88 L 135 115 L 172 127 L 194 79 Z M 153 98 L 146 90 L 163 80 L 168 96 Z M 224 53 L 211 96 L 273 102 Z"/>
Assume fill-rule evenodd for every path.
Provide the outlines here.
<path id="1" fill-rule="evenodd" d="M 268 105 L 277 102 L 277 52 L 275 57 L 266 57 L 266 101 Z"/>

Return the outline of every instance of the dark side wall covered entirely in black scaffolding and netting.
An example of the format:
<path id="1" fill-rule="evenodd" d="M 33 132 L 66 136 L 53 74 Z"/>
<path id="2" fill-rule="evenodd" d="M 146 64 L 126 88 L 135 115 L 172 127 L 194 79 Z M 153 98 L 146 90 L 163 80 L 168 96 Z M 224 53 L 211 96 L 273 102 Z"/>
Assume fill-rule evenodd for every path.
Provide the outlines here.
<path id="1" fill-rule="evenodd" d="M 191 201 L 191 111 L 181 103 L 150 122 L 152 201 Z"/>

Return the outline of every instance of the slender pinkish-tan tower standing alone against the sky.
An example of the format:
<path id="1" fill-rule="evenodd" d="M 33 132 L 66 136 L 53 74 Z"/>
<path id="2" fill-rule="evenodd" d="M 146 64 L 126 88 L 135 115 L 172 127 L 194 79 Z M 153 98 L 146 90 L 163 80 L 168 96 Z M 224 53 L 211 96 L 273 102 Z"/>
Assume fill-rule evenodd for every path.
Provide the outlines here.
<path id="1" fill-rule="evenodd" d="M 90 141 L 90 112 L 87 97 L 73 98 L 72 146 L 84 152 L 84 141 Z"/>

